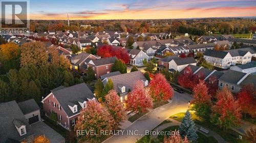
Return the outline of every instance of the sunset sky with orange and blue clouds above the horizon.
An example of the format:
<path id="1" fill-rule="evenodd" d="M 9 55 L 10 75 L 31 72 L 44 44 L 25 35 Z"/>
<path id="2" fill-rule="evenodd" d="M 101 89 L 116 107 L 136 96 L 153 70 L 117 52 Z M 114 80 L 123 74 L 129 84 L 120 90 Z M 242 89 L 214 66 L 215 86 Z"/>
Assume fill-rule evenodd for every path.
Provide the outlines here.
<path id="1" fill-rule="evenodd" d="M 170 19 L 256 16 L 256 0 L 30 0 L 30 19 Z"/>

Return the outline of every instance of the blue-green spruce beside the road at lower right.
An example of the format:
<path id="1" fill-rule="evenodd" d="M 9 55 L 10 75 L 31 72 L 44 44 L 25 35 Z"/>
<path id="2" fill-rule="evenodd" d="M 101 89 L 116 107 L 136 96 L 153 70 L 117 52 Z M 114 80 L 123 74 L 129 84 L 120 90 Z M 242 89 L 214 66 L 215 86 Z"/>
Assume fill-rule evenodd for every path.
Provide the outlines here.
<path id="1" fill-rule="evenodd" d="M 187 136 L 188 140 L 192 142 L 197 141 L 198 135 L 196 133 L 196 124 L 191 119 L 191 114 L 188 110 L 186 111 L 185 117 L 182 119 L 179 130 L 183 138 Z"/>

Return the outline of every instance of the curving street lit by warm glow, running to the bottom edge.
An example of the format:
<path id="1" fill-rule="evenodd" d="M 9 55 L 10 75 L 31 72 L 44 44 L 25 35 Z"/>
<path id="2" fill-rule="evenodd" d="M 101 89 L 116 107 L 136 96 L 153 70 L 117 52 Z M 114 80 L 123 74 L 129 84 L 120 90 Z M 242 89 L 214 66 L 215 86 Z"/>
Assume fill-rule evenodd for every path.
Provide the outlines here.
<path id="1" fill-rule="evenodd" d="M 191 97 L 187 94 L 174 92 L 173 102 L 159 107 L 147 113 L 144 117 L 135 121 L 130 127 L 124 129 L 123 134 L 115 135 L 104 143 L 132 143 L 145 135 L 145 131 L 151 131 L 161 122 L 175 113 L 184 112 L 188 109 L 188 101 Z"/>

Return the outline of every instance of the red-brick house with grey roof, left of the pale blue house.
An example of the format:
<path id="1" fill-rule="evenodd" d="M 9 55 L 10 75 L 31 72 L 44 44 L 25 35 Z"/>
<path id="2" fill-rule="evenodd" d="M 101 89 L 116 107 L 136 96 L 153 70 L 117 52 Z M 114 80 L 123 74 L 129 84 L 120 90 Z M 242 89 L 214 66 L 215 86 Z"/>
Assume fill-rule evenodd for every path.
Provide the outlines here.
<path id="1" fill-rule="evenodd" d="M 116 61 L 116 57 L 101 58 L 91 60 L 87 67 L 92 67 L 95 72 L 95 77 L 100 78 L 101 75 L 111 72 L 111 69 Z"/>

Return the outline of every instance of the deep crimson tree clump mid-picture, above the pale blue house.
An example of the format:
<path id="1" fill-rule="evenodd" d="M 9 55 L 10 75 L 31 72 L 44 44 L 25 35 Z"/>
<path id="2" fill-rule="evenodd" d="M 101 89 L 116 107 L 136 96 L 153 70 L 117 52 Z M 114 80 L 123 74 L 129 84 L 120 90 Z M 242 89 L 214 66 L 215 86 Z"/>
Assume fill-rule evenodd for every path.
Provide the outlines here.
<path id="1" fill-rule="evenodd" d="M 97 55 L 101 56 L 101 58 L 116 56 L 124 63 L 129 63 L 131 59 L 125 48 L 112 45 L 103 45 L 99 47 L 97 49 Z"/>

